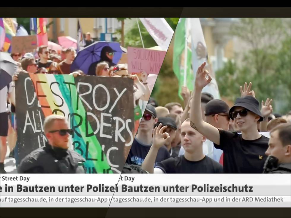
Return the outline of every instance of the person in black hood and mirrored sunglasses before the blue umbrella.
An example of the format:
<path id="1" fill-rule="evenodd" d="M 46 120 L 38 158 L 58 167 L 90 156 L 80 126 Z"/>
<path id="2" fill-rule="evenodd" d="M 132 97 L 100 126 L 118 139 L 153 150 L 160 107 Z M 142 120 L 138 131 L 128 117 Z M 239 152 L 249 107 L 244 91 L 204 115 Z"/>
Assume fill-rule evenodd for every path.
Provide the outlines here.
<path id="1" fill-rule="evenodd" d="M 92 75 L 92 76 L 96 75 L 96 66 L 100 62 L 106 61 L 109 67 L 115 66 L 116 64 L 112 62 L 114 52 L 115 51 L 110 46 L 104 46 L 100 54 L 101 59 L 99 61 L 91 63 L 88 70 L 88 75 Z"/>

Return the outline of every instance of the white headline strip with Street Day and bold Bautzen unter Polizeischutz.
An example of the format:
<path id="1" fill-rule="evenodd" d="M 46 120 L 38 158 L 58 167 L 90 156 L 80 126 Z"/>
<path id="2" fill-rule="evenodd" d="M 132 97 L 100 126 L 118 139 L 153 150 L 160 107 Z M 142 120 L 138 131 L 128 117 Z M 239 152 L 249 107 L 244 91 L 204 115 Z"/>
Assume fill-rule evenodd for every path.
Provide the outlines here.
<path id="1" fill-rule="evenodd" d="M 1 196 L 290 196 L 290 174 L 5 174 Z"/>

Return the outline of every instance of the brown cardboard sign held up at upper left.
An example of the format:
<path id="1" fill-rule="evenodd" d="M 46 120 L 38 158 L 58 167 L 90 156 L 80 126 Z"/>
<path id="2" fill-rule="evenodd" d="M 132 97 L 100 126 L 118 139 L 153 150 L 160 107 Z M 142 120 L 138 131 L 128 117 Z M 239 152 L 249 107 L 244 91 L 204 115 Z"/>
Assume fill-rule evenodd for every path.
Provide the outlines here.
<path id="1" fill-rule="evenodd" d="M 37 36 L 13 36 L 11 41 L 12 53 L 27 53 L 37 49 Z"/>

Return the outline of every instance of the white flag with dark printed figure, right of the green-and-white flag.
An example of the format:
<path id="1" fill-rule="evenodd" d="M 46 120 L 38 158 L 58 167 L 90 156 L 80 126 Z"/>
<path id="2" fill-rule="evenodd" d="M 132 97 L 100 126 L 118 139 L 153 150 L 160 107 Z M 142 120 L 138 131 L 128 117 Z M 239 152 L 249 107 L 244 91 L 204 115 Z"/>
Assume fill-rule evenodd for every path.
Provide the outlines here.
<path id="1" fill-rule="evenodd" d="M 208 92 L 213 95 L 215 99 L 220 99 L 219 90 L 217 82 L 215 79 L 215 74 L 210 68 L 210 63 L 206 58 L 207 56 L 207 47 L 201 27 L 199 18 L 189 18 L 190 19 L 190 30 L 191 30 L 191 39 L 192 39 L 192 69 L 194 72 L 194 79 L 196 77 L 196 71 L 198 66 L 200 66 L 204 61 L 207 61 L 206 69 L 212 76 L 211 82 L 205 86 L 202 92 Z M 194 82 L 194 81 L 193 81 Z"/>

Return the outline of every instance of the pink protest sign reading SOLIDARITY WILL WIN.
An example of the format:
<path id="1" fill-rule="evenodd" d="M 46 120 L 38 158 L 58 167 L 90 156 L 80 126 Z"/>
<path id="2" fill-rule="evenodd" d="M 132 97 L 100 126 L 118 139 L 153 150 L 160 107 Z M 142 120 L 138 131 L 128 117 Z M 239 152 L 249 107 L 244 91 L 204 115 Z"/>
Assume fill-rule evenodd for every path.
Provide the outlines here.
<path id="1" fill-rule="evenodd" d="M 128 47 L 127 54 L 129 73 L 146 71 L 147 74 L 159 74 L 166 52 Z"/>

